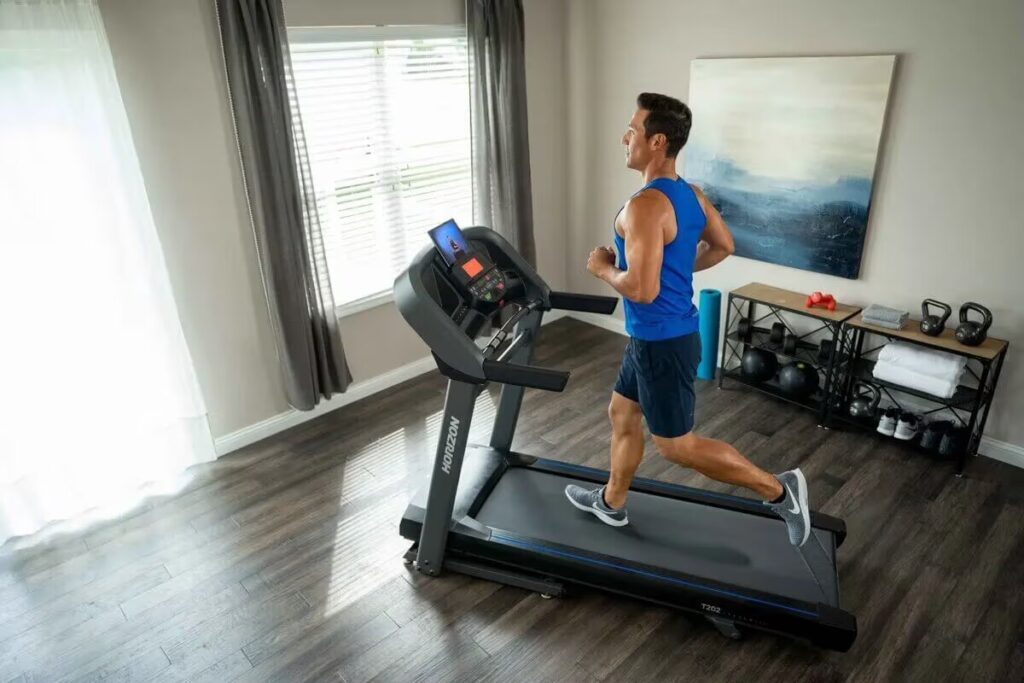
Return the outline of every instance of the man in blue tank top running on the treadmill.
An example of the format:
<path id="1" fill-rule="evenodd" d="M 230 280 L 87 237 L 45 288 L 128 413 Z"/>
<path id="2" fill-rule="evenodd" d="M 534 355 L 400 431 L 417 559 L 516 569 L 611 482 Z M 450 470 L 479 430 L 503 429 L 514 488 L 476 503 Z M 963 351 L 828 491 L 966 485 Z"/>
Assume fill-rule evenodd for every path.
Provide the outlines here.
<path id="1" fill-rule="evenodd" d="M 611 472 L 600 488 L 568 485 L 575 507 L 624 526 L 626 499 L 643 458 L 641 416 L 668 460 L 754 490 L 783 520 L 790 542 L 803 546 L 811 530 L 807 481 L 799 469 L 773 476 L 735 449 L 693 433 L 693 379 L 700 360 L 693 273 L 733 253 L 732 234 L 715 206 L 676 173 L 676 156 L 691 115 L 667 95 L 642 93 L 623 136 L 627 167 L 644 185 L 614 220 L 615 251 L 598 247 L 587 269 L 623 296 L 630 341 L 608 405 Z"/>

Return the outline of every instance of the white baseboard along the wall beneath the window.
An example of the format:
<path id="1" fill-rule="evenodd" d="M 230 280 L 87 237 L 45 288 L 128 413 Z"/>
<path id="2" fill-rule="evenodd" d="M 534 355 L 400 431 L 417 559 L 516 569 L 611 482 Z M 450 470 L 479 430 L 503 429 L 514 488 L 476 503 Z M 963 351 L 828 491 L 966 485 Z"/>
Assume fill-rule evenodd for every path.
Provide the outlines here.
<path id="1" fill-rule="evenodd" d="M 555 321 L 565 316 L 565 311 L 551 311 L 544 316 L 542 325 L 554 323 Z M 437 366 L 434 364 L 433 356 L 424 356 L 418 360 L 407 362 L 404 366 L 400 366 L 394 370 L 389 370 L 386 373 L 372 377 L 368 380 L 354 382 L 348 387 L 348 390 L 345 393 L 338 394 L 330 400 L 321 402 L 311 411 L 286 411 L 261 422 L 257 422 L 254 425 L 250 425 L 239 429 L 238 431 L 225 434 L 224 436 L 220 436 L 214 440 L 214 449 L 216 450 L 217 457 L 226 456 L 233 451 L 244 449 L 247 445 L 252 445 L 257 441 L 262 441 L 263 439 L 273 436 L 279 432 L 283 432 L 286 429 L 291 429 L 292 427 L 301 425 L 309 420 L 314 420 L 322 415 L 336 411 L 339 408 L 350 405 L 356 401 L 367 398 L 368 396 L 372 396 L 375 393 L 379 393 L 385 389 L 390 389 L 391 387 L 401 384 L 402 382 L 408 382 L 415 377 L 429 373 L 436 368 Z"/>

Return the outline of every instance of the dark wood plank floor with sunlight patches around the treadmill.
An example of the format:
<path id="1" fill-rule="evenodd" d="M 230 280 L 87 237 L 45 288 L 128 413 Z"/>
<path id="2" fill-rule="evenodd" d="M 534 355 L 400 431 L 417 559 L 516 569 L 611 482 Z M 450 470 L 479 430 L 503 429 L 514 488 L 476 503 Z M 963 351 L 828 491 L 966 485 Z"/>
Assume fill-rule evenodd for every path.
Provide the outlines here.
<path id="1" fill-rule="evenodd" d="M 625 343 L 562 319 L 538 362 L 573 371 L 527 392 L 516 447 L 605 467 Z M 182 494 L 0 554 L 0 682 L 1022 681 L 1024 473 L 949 466 L 881 437 L 826 431 L 755 392 L 698 389 L 698 429 L 771 471 L 799 465 L 844 518 L 847 653 L 584 592 L 543 600 L 400 561 L 397 521 L 427 480 L 436 374 L 203 466 Z M 496 392 L 477 404 L 483 438 Z M 140 454 L 143 456 L 144 454 Z M 650 450 L 641 475 L 729 487 Z"/>

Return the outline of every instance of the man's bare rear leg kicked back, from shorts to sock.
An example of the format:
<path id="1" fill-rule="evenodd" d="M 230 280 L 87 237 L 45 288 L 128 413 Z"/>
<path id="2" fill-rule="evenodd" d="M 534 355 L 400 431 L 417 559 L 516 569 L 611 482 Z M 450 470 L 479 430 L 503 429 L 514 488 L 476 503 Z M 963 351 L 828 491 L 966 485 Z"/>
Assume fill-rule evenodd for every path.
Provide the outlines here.
<path id="1" fill-rule="evenodd" d="M 725 441 L 690 432 L 675 438 L 655 436 L 654 444 L 666 459 L 717 481 L 745 486 L 766 501 L 774 501 L 782 495 L 782 484 L 774 475 Z"/>

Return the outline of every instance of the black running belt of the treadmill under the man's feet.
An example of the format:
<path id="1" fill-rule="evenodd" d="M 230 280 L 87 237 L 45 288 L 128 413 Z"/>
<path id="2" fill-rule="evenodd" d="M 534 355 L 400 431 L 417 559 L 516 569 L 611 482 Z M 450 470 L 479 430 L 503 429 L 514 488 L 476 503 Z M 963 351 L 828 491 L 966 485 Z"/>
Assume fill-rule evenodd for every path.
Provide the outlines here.
<path id="1" fill-rule="evenodd" d="M 790 545 L 781 519 L 630 492 L 630 523 L 613 527 L 572 507 L 564 494 L 569 483 L 594 486 L 589 481 L 512 467 L 476 519 L 494 528 L 697 580 L 708 578 L 838 606 L 835 572 L 827 577 L 822 596 L 799 552 Z M 835 563 L 830 532 L 815 528 L 813 533 Z"/>

